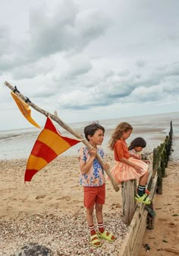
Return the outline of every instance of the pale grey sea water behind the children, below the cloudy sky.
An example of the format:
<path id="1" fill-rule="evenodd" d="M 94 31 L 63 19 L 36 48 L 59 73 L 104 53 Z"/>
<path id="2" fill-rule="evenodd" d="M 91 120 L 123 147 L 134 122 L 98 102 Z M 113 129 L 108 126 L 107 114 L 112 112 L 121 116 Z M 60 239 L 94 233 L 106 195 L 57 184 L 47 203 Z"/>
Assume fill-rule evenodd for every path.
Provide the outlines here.
<path id="1" fill-rule="evenodd" d="M 105 127 L 105 139 L 102 142 L 102 146 L 107 153 L 109 151 L 108 140 L 118 123 L 127 122 L 133 126 L 133 133 L 130 135 L 130 138 L 127 139 L 128 144 L 132 139 L 140 136 L 146 140 L 147 146 L 145 150 L 147 152 L 152 152 L 156 146 L 159 146 L 160 143 L 164 142 L 165 137 L 170 131 L 172 122 L 173 152 L 171 158 L 176 161 L 179 160 L 179 112 L 94 121 L 97 121 Z M 71 136 L 71 134 L 62 129 L 61 126 L 58 126 L 55 122 L 53 123 L 57 126 L 62 135 Z M 93 122 L 68 123 L 68 126 L 71 126 L 73 130 L 83 135 L 83 129 L 89 123 Z M 0 131 L 0 159 L 28 158 L 39 133 L 40 130 L 35 127 Z M 74 136 L 71 137 L 74 138 Z M 80 146 L 83 146 L 82 142 L 71 147 L 62 155 L 77 155 L 77 150 Z"/>

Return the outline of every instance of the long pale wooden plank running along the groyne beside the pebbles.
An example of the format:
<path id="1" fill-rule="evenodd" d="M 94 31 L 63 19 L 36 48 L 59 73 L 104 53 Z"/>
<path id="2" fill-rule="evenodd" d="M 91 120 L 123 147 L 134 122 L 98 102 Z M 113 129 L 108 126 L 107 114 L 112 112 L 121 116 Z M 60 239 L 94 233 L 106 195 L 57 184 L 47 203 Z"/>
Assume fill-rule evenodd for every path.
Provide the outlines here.
<path id="1" fill-rule="evenodd" d="M 152 177 L 151 177 L 152 178 Z M 156 184 L 157 184 L 157 174 L 155 174 L 155 178 L 152 180 L 151 187 L 151 200 L 155 196 Z M 132 222 L 129 226 L 129 232 L 124 238 L 124 242 L 122 243 L 120 256 L 137 256 L 140 247 L 143 242 L 143 235 L 146 231 L 146 217 L 148 212 L 145 210 L 145 205 L 140 203 L 137 206 L 137 210 L 133 216 Z"/>

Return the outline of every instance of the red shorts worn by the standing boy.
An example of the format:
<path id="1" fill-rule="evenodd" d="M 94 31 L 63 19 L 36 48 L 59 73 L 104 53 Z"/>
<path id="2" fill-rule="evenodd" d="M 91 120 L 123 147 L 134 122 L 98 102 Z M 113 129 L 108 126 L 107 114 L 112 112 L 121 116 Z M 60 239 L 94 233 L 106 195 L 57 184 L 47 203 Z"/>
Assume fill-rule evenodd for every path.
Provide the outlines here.
<path id="1" fill-rule="evenodd" d="M 89 209 L 95 203 L 105 203 L 105 184 L 99 187 L 83 187 L 84 191 L 84 206 Z"/>

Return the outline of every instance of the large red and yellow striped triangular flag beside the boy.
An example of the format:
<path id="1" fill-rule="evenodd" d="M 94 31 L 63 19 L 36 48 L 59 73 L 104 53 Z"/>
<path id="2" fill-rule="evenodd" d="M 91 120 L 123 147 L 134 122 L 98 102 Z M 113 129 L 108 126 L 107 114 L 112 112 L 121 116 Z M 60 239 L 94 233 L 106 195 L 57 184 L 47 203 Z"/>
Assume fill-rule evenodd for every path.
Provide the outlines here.
<path id="1" fill-rule="evenodd" d="M 37 171 L 40 171 L 58 155 L 81 141 L 82 139 L 62 136 L 53 125 L 52 120 L 47 117 L 46 125 L 39 133 L 28 158 L 24 181 L 31 181 Z"/>

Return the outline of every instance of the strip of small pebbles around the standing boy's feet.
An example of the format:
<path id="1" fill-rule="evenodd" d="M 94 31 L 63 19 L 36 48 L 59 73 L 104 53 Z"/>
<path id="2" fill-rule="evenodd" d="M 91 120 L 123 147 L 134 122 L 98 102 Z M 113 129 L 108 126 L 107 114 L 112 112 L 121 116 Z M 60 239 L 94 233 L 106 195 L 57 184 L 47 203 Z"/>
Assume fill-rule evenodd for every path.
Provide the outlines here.
<path id="1" fill-rule="evenodd" d="M 73 214 L 55 216 L 44 213 L 25 214 L 2 220 L 0 256 L 16 256 L 18 254 L 15 254 L 15 251 L 18 248 L 30 243 L 49 248 L 53 256 L 118 256 L 121 242 L 127 234 L 127 226 L 122 220 L 121 213 L 104 214 L 105 229 L 114 233 L 116 239 L 112 243 L 102 239 L 100 248 L 93 248 L 89 243 L 89 231 L 83 214 L 73 218 Z"/>

